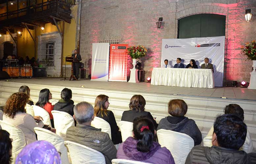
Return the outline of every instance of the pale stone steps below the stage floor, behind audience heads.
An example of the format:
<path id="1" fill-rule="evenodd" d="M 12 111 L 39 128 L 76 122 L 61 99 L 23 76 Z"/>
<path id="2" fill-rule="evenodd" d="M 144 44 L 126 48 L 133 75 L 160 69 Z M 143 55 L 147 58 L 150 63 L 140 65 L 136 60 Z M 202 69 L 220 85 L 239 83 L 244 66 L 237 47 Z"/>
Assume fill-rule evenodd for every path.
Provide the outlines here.
<path id="1" fill-rule="evenodd" d="M 0 81 L 0 105 L 4 105 L 8 97 L 18 92 L 22 85 L 27 85 L 30 88 L 31 99 L 34 104 L 38 101 L 40 90 L 48 88 L 52 93 L 53 99 L 50 100 L 55 104 L 60 99 L 60 92 L 63 86 L 54 85 L 37 85 L 32 83 L 6 82 Z M 94 105 L 97 95 L 105 94 L 109 96 L 109 110 L 115 114 L 116 121 L 120 121 L 122 113 L 129 110 L 129 101 L 134 94 L 141 94 L 146 99 L 145 110 L 149 111 L 153 117 L 156 117 L 156 122 L 168 116 L 168 102 L 171 99 L 183 99 L 188 110 L 186 116 L 195 120 L 197 126 L 202 132 L 202 136 L 209 132 L 213 126 L 214 119 L 217 114 L 223 114 L 223 108 L 231 103 L 239 104 L 244 110 L 244 122 L 251 133 L 253 145 L 256 147 L 256 101 L 239 100 L 239 99 L 222 99 L 212 97 L 184 96 L 184 95 L 169 95 L 169 94 L 152 94 L 142 92 L 121 92 L 115 90 L 88 89 L 80 87 L 69 87 L 72 90 L 72 100 L 75 104 L 81 101 L 87 101 Z"/>

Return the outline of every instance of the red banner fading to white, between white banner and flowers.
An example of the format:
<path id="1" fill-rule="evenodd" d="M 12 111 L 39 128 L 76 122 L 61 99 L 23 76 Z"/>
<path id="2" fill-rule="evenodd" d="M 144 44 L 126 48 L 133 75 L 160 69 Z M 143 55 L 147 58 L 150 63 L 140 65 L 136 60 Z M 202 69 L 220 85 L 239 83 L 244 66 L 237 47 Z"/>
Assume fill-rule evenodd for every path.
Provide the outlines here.
<path id="1" fill-rule="evenodd" d="M 128 44 L 110 44 L 108 81 L 127 81 Z"/>

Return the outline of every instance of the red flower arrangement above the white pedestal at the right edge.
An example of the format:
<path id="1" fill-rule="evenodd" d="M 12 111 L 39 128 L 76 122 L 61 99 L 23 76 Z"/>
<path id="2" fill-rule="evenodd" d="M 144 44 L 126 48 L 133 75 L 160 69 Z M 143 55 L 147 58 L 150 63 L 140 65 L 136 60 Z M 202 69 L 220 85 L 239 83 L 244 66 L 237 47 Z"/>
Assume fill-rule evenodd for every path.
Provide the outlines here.
<path id="1" fill-rule="evenodd" d="M 243 46 L 241 47 L 241 53 L 247 55 L 248 60 L 256 60 L 256 41 L 253 40 L 251 43 L 247 42 L 245 44 L 245 48 Z"/>

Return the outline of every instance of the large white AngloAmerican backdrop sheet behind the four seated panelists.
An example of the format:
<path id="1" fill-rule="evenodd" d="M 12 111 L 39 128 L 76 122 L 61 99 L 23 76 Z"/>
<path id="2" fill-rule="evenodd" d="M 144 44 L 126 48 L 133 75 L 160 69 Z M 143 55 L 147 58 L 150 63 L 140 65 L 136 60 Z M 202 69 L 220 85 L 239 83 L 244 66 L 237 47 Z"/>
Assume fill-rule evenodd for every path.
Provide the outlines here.
<path id="1" fill-rule="evenodd" d="M 180 57 L 185 67 L 189 64 L 190 59 L 194 59 L 198 68 L 201 68 L 201 65 L 204 64 L 204 58 L 208 57 L 209 63 L 212 63 L 214 68 L 214 84 L 217 87 L 222 87 L 224 47 L 225 36 L 162 39 L 161 67 L 164 65 L 164 60 L 168 59 L 169 65 L 173 68 L 176 64 L 176 59 Z"/>

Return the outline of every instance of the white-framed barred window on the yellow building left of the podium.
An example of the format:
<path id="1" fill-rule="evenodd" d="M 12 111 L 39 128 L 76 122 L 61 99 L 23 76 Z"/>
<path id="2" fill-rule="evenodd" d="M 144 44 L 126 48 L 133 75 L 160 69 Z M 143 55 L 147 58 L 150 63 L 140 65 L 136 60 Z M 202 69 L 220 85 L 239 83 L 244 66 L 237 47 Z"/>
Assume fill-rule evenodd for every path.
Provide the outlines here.
<path id="1" fill-rule="evenodd" d="M 55 37 L 45 37 L 41 40 L 41 54 L 39 59 L 48 67 L 54 67 Z"/>

